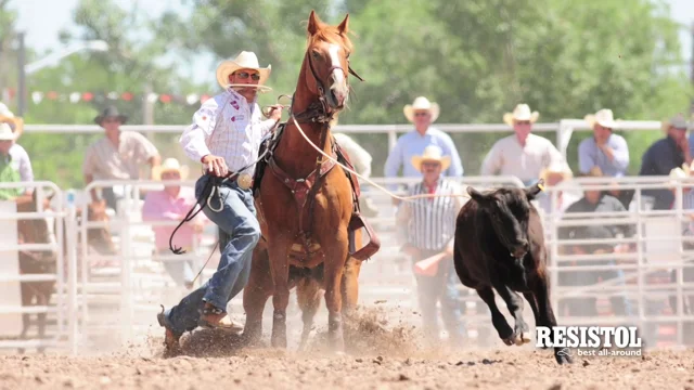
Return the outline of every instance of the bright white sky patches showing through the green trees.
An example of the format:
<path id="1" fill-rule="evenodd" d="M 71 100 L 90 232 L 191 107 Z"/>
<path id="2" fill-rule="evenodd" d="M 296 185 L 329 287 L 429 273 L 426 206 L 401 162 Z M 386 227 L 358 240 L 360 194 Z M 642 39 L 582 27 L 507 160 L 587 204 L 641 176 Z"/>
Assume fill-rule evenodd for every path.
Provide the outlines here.
<path id="1" fill-rule="evenodd" d="M 151 16 L 158 16 L 166 11 L 171 3 L 179 4 L 174 0 L 115 0 L 125 9 L 138 4 L 141 12 Z M 57 32 L 67 27 L 74 28 L 72 23 L 73 11 L 77 6 L 78 0 L 14 0 L 11 5 L 18 11 L 17 27 L 26 31 L 26 44 L 38 52 L 59 50 L 62 44 L 59 41 Z M 670 4 L 670 12 L 676 21 L 684 26 L 691 26 L 694 22 L 694 0 L 667 0 Z M 182 9 L 178 5 L 178 9 Z M 33 28 L 41 26 L 41 28 Z M 692 55 L 692 36 L 690 29 L 680 32 L 682 52 L 684 58 L 689 61 Z M 214 82 L 211 66 L 214 58 L 207 57 L 195 63 L 194 68 L 189 68 L 182 64 L 181 72 L 189 75 L 198 82 Z M 687 68 L 689 70 L 689 68 Z"/>

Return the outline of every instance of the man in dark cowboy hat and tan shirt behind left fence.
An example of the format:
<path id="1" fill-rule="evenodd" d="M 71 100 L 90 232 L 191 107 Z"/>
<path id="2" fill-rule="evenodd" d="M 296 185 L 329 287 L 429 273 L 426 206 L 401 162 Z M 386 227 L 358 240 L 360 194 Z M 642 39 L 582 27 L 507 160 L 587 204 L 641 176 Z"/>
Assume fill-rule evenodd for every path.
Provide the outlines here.
<path id="1" fill-rule="evenodd" d="M 94 180 L 139 180 L 140 166 L 147 162 L 154 169 L 160 164 L 159 152 L 150 140 L 138 132 L 120 130 L 127 120 L 128 117 L 114 106 L 106 107 L 94 118 L 94 122 L 104 129 L 104 138 L 92 143 L 85 154 L 85 184 Z M 103 187 L 102 196 L 102 202 L 117 210 L 113 187 Z M 91 197 L 99 200 L 97 188 L 91 190 Z"/>

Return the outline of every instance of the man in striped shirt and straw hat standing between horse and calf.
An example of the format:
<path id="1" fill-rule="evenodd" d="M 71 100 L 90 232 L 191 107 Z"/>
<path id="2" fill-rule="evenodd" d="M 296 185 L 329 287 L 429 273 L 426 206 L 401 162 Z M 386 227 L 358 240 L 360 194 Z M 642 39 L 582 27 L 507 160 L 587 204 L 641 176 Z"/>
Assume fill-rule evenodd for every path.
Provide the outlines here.
<path id="1" fill-rule="evenodd" d="M 453 268 L 453 243 L 455 218 L 463 204 L 459 196 L 462 191 L 450 180 L 444 179 L 441 172 L 451 165 L 451 157 L 444 156 L 440 147 L 429 145 L 420 156 L 412 156 L 412 167 L 422 172 L 422 182 L 412 186 L 410 196 L 442 195 L 440 197 L 416 198 L 403 203 L 396 214 L 400 234 L 406 236 L 402 251 L 415 262 L 432 257 L 437 261 L 427 268 L 436 268 L 430 276 L 425 272 L 416 272 L 416 285 L 424 322 L 424 330 L 430 342 L 438 340 L 437 302 L 441 303 L 441 316 L 452 343 L 459 344 L 464 336 L 459 302 L 458 274 Z M 416 268 L 415 268 L 416 270 Z"/>

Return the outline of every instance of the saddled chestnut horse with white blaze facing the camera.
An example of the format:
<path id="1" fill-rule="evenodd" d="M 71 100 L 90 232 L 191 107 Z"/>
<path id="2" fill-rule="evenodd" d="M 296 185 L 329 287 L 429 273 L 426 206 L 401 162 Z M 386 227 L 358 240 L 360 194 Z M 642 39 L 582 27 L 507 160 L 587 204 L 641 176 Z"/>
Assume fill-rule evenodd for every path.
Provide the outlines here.
<path id="1" fill-rule="evenodd" d="M 297 128 L 298 122 L 325 154 L 333 157 L 343 154 L 331 135 L 330 122 L 347 102 L 348 72 L 359 78 L 349 68 L 352 47 L 347 37 L 348 21 L 349 15 L 338 26 L 329 26 L 311 11 L 308 46 L 292 101 L 292 117 L 284 129 L 278 130 L 277 143 L 270 146 L 272 153 L 267 169 L 271 174 L 262 174 L 260 168 L 260 177 L 256 176 L 262 238 L 254 251 L 243 297 L 244 337 L 248 342 L 260 337 L 262 311 L 272 296 L 271 343 L 286 348 L 286 308 L 290 289 L 296 286 L 304 312 L 304 346 L 323 288 L 329 311 L 329 342 L 333 350 L 344 351 L 343 299 L 346 309 L 356 307 L 361 261 L 377 250 L 374 247 L 378 244 L 375 244 L 369 255 L 364 255 L 368 250 L 350 253 L 350 244 L 355 248 L 361 243 L 356 220 L 369 232 L 370 244 L 377 243 L 355 206 L 359 193 L 356 179 L 348 178 L 343 169 L 332 169 L 335 161 L 319 154 Z"/>

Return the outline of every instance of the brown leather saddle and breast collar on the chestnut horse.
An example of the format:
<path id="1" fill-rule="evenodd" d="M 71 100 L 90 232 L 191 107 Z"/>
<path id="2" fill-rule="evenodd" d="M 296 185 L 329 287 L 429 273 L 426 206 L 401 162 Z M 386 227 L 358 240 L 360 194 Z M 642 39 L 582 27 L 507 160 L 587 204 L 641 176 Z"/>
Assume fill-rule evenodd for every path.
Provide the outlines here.
<path id="1" fill-rule="evenodd" d="M 320 178 L 327 174 L 327 172 L 330 172 L 335 167 L 335 161 L 331 159 L 326 159 L 322 164 L 320 171 L 313 171 L 305 179 L 291 178 L 288 174 L 286 174 L 286 172 L 284 172 L 277 165 L 273 158 L 274 150 L 279 144 L 279 141 L 282 136 L 282 132 L 284 131 L 285 126 L 286 123 L 281 123 L 280 127 L 277 129 L 274 135 L 265 139 L 260 144 L 259 155 L 262 155 L 262 153 L 265 153 L 266 151 L 269 151 L 269 153 L 266 155 L 266 158 L 261 159 L 256 165 L 256 171 L 255 171 L 254 181 L 253 181 L 253 194 L 254 194 L 254 197 L 258 197 L 260 193 L 260 182 L 265 174 L 266 168 L 268 168 L 269 166 L 271 172 L 275 177 L 278 177 L 278 179 L 280 179 L 292 191 L 292 194 L 294 195 L 294 200 L 297 203 L 299 210 L 304 210 L 304 206 L 306 205 L 306 203 L 312 202 L 312 199 L 308 198 L 311 187 Z M 347 153 L 345 153 L 345 151 L 342 150 L 342 147 L 335 141 L 335 139 L 331 138 L 330 142 L 332 145 L 333 158 L 335 158 L 337 161 L 345 165 L 349 169 L 355 170 L 354 165 L 349 160 L 349 156 L 347 155 Z M 373 229 L 371 227 L 371 225 L 369 224 L 369 222 L 364 219 L 363 216 L 361 216 L 360 206 L 359 206 L 359 196 L 361 195 L 361 191 L 360 191 L 358 178 L 345 169 L 343 169 L 343 171 L 349 179 L 349 183 L 351 184 L 351 194 L 352 194 L 352 214 L 349 220 L 349 225 L 347 227 L 348 235 L 349 235 L 349 255 L 359 261 L 363 261 L 371 258 L 373 255 L 375 255 L 378 251 L 378 249 L 381 248 L 381 242 L 376 236 L 375 232 L 373 231 Z M 301 216 L 303 216 L 303 212 L 299 216 L 299 218 L 301 218 Z M 309 207 L 309 218 L 311 218 L 310 207 Z M 301 224 L 299 223 L 299 225 Z M 369 243 L 362 248 L 360 248 L 359 250 L 357 250 L 355 232 L 362 227 L 367 231 L 367 234 L 369 235 Z M 304 238 L 304 242 L 305 242 L 305 245 L 304 245 L 305 253 L 299 253 L 298 250 L 292 250 L 293 256 L 296 258 L 307 258 L 314 255 L 314 252 L 317 251 L 317 246 L 316 245 L 311 246 L 309 244 L 309 236 L 311 232 L 310 231 L 300 232 L 299 234 L 303 235 L 301 238 Z M 316 249 L 316 250 L 311 250 L 311 249 Z"/>

